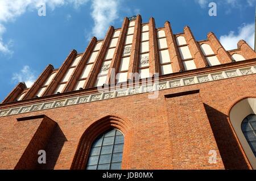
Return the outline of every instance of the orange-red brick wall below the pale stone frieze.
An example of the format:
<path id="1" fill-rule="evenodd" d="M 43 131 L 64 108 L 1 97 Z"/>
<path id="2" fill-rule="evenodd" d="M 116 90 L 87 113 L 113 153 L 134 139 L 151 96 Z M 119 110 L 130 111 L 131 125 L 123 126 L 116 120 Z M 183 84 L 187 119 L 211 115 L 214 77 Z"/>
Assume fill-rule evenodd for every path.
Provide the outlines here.
<path id="1" fill-rule="evenodd" d="M 255 75 L 246 75 L 162 90 L 158 99 L 148 99 L 147 93 L 1 117 L 0 166 L 14 169 L 40 125 L 34 120 L 16 127 L 17 118 L 46 115 L 55 121 L 59 127 L 46 149 L 51 159 L 42 168 L 70 169 L 86 129 L 116 115 L 130 123 L 122 169 L 249 169 L 227 117 L 230 105 L 254 95 L 255 87 Z M 191 90 L 200 93 L 165 98 Z M 220 153 L 217 164 L 207 161 L 210 149 Z"/>

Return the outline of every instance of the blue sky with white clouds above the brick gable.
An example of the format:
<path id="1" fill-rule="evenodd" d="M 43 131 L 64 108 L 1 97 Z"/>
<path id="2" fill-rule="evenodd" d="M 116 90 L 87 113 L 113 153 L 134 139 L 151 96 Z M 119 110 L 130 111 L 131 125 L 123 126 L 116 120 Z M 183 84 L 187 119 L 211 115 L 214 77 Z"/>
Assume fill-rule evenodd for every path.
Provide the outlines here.
<path id="1" fill-rule="evenodd" d="M 209 2 L 217 16 L 209 16 Z M 46 16 L 38 10 L 46 3 Z M 0 101 L 18 82 L 28 86 L 48 64 L 63 63 L 72 49 L 83 52 L 92 36 L 101 39 L 125 16 L 152 16 L 156 27 L 171 22 L 174 33 L 191 27 L 197 40 L 212 31 L 226 49 L 240 39 L 254 44 L 256 0 L 0 0 Z M 97 27 L 97 28 L 96 28 Z"/>

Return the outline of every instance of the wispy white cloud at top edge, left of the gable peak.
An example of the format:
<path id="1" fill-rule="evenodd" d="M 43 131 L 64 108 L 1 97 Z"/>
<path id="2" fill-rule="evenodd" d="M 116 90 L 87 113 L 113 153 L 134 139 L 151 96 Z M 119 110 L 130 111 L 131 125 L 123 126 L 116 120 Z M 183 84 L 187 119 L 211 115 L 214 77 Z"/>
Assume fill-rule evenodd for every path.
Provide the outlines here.
<path id="1" fill-rule="evenodd" d="M 92 2 L 93 36 L 104 37 L 109 25 L 118 19 L 118 5 L 118 0 L 94 0 Z"/>

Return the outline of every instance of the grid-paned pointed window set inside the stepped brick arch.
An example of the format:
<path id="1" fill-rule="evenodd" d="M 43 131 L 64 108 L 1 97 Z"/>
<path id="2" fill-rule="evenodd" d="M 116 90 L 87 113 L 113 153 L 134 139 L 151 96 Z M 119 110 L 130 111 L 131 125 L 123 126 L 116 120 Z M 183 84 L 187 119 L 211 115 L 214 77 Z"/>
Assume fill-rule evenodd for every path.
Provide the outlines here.
<path id="1" fill-rule="evenodd" d="M 87 170 L 121 170 L 123 155 L 123 134 L 117 129 L 110 129 L 94 140 Z"/>

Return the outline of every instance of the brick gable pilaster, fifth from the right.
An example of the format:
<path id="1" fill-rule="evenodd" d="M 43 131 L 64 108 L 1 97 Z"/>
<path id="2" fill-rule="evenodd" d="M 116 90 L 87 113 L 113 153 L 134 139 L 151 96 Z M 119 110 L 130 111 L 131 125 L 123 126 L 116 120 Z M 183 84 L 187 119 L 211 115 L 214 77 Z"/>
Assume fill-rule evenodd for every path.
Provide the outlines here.
<path id="1" fill-rule="evenodd" d="M 159 73 L 158 42 L 156 39 L 155 19 L 149 21 L 149 70 L 151 74 Z"/>

